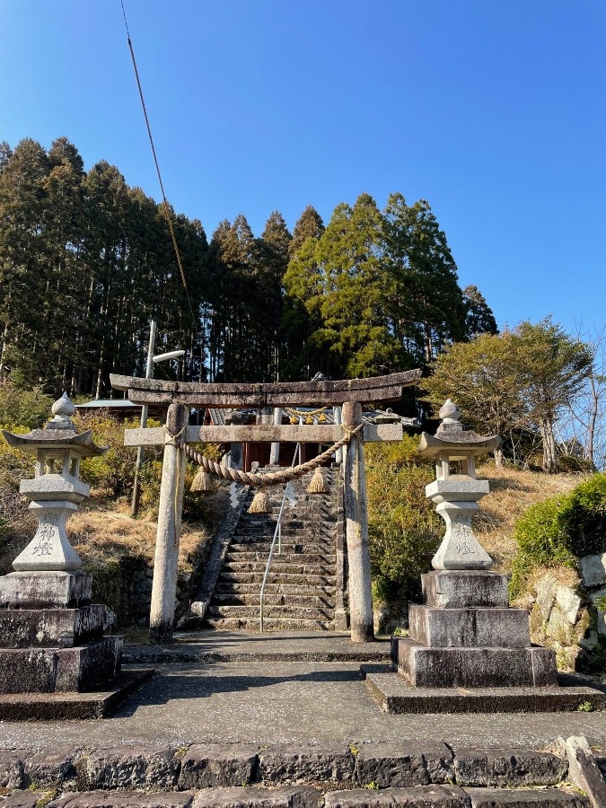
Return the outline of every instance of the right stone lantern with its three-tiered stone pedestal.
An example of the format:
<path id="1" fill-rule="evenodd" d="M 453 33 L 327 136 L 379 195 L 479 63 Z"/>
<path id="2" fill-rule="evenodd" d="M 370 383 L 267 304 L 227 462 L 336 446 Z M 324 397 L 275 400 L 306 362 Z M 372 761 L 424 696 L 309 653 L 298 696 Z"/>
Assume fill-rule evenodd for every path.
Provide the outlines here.
<path id="1" fill-rule="evenodd" d="M 529 688 L 557 684 L 556 656 L 531 645 L 528 611 L 509 606 L 507 576 L 491 572 L 492 558 L 471 530 L 487 480 L 476 479 L 475 458 L 496 449 L 498 435 L 463 429 L 447 400 L 435 435 L 421 435 L 419 453 L 435 458 L 426 495 L 446 523 L 421 575 L 423 603 L 409 604 L 408 637 L 391 638 L 394 670 L 416 688 Z"/>

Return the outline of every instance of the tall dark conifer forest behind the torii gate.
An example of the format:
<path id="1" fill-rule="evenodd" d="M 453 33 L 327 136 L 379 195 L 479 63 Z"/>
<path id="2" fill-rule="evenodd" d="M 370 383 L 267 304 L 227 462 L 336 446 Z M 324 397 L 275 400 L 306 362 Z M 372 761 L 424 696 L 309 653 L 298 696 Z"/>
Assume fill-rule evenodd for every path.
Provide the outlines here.
<path id="1" fill-rule="evenodd" d="M 145 373 L 151 320 L 156 352 L 184 348 L 184 379 L 202 382 L 426 368 L 496 333 L 424 200 L 362 194 L 326 225 L 307 206 L 293 233 L 275 211 L 259 236 L 240 214 L 208 240 L 108 162 L 85 171 L 66 137 L 0 145 L 0 290 L 0 382 L 95 398 L 110 373 Z"/>

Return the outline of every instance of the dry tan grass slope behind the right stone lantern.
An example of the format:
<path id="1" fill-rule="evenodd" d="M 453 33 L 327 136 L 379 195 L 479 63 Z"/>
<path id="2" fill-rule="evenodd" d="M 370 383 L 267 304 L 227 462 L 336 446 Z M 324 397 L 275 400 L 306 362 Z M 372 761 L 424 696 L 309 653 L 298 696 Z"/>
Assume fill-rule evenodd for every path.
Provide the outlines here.
<path id="1" fill-rule="evenodd" d="M 479 503 L 473 528 L 482 546 L 494 558 L 496 572 L 511 572 L 516 545 L 512 534 L 514 523 L 529 505 L 548 496 L 565 494 L 584 478 L 578 474 L 544 474 L 505 467 L 492 463 L 479 466 L 478 476 L 488 479 L 490 493 Z"/>

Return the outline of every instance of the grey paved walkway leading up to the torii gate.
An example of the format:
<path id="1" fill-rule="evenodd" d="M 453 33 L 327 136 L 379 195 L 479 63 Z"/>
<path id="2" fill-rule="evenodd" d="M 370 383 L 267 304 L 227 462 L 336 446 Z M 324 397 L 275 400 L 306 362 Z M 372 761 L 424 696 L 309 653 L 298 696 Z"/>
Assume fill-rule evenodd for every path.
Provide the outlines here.
<path id="1" fill-rule="evenodd" d="M 166 662 L 112 718 L 103 721 L 0 723 L 0 747 L 57 743 L 178 746 L 193 742 L 445 741 L 465 747 L 534 747 L 558 735 L 606 744 L 606 713 L 391 716 L 381 712 L 359 675 L 364 648 L 323 633 L 212 632 L 178 637 L 173 646 L 128 646 L 127 654 Z M 294 661 L 296 651 L 303 658 Z M 376 659 L 387 643 L 368 648 Z M 190 654 L 206 661 L 183 662 Z M 215 658 L 212 658 L 213 654 Z M 331 661 L 314 661 L 330 654 Z M 355 654 L 355 660 L 345 658 Z M 233 661 L 224 661 L 230 659 Z"/>

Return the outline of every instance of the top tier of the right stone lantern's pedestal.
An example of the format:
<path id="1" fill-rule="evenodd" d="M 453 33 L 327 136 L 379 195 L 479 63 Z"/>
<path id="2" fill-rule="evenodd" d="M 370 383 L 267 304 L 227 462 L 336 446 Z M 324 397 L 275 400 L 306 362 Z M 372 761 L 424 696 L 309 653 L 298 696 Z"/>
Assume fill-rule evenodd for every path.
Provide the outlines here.
<path id="1" fill-rule="evenodd" d="M 436 570 L 421 575 L 427 606 L 467 609 L 509 605 L 507 576 L 483 570 Z"/>

